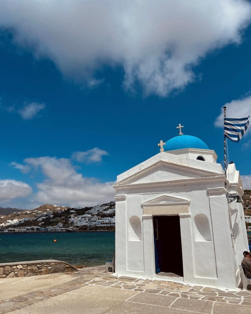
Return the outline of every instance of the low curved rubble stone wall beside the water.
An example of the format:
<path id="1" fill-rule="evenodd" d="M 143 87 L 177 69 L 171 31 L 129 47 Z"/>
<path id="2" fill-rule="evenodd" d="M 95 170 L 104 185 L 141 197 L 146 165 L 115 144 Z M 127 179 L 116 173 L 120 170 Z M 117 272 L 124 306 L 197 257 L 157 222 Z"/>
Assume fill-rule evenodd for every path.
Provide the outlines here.
<path id="1" fill-rule="evenodd" d="M 0 264 L 0 279 L 46 275 L 50 273 L 68 273 L 75 271 L 77 271 L 77 268 L 74 266 L 56 260 L 2 263 Z"/>

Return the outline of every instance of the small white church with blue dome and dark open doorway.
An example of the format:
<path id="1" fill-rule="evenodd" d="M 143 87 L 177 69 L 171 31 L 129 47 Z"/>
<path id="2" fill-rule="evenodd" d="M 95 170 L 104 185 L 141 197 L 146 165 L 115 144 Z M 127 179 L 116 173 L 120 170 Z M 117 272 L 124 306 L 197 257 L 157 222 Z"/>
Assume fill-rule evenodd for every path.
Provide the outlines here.
<path id="1" fill-rule="evenodd" d="M 236 289 L 248 250 L 239 171 L 227 182 L 197 137 L 159 143 L 160 153 L 117 176 L 115 274 Z M 227 189 L 225 188 L 227 184 Z"/>

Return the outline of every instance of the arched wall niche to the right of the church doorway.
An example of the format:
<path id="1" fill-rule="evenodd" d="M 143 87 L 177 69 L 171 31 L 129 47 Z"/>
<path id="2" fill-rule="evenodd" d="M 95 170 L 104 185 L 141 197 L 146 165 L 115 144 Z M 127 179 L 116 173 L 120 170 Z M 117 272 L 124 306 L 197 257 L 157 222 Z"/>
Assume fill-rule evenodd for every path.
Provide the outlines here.
<path id="1" fill-rule="evenodd" d="M 195 241 L 211 241 L 209 221 L 206 215 L 198 214 L 194 218 Z"/>

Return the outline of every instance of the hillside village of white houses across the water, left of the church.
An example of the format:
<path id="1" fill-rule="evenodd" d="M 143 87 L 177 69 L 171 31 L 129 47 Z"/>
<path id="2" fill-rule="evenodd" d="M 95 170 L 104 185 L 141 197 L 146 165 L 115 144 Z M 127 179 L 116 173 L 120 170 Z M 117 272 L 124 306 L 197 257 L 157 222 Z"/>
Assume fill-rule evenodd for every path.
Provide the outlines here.
<path id="1" fill-rule="evenodd" d="M 73 208 L 42 205 L 0 217 L 0 233 L 115 230 L 115 202 Z"/>

